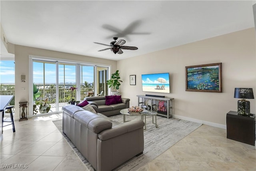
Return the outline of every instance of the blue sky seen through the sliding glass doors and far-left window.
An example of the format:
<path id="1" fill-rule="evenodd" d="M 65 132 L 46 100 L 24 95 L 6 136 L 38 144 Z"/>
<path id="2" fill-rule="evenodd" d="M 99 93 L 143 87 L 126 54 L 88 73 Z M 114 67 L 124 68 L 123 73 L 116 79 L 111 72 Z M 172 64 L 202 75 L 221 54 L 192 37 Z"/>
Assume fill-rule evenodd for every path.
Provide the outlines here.
<path id="1" fill-rule="evenodd" d="M 0 61 L 0 83 L 1 84 L 14 84 L 14 61 Z M 43 63 L 33 62 L 33 82 L 43 83 Z M 87 81 L 93 82 L 93 66 L 82 66 L 82 82 Z M 28 76 L 26 76 L 28 78 Z M 27 81 L 27 80 L 26 80 Z M 45 82 L 56 84 L 56 65 L 45 64 Z M 59 65 L 59 83 L 64 82 L 64 65 Z M 76 66 L 65 65 L 65 82 L 75 83 L 76 82 Z"/>

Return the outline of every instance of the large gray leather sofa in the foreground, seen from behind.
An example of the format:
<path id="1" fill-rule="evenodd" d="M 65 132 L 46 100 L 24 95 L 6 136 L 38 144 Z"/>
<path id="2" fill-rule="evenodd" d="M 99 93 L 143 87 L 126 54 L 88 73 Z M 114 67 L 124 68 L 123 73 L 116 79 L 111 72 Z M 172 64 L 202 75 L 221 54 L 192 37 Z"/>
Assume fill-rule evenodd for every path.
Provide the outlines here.
<path id="1" fill-rule="evenodd" d="M 94 108 L 94 106 L 92 104 Z M 63 110 L 63 133 L 96 171 L 110 171 L 144 150 L 144 122 L 112 121 L 76 105 Z"/>

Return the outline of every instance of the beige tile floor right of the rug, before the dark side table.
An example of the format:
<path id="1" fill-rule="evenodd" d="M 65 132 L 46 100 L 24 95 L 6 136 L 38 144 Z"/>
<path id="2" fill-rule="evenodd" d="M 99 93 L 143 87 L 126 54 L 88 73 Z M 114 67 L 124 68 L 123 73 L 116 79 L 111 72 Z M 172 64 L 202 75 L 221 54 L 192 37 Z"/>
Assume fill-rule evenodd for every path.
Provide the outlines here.
<path id="1" fill-rule="evenodd" d="M 139 171 L 256 171 L 254 146 L 226 138 L 226 129 L 202 125 Z"/>

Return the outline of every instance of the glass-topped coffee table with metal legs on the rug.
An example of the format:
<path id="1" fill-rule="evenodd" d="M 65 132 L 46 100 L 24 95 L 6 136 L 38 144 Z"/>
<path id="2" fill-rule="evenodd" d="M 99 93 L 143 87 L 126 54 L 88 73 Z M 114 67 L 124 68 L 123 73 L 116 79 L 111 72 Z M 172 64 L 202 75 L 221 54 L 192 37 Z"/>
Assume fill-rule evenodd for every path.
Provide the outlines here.
<path id="1" fill-rule="evenodd" d="M 126 120 L 125 120 L 126 115 L 140 116 L 140 119 L 142 121 L 144 121 L 144 119 L 145 119 L 145 121 L 144 121 L 145 129 L 146 129 L 146 116 L 152 116 L 152 123 L 154 123 L 154 117 L 155 117 L 155 124 L 156 124 L 156 115 L 157 115 L 157 113 L 148 112 L 146 109 L 144 109 L 142 112 L 129 112 L 128 108 L 127 108 L 127 109 L 120 110 L 120 113 L 124 115 L 124 122 L 126 122 Z M 157 127 L 158 127 L 158 125 L 156 124 L 156 128 Z"/>

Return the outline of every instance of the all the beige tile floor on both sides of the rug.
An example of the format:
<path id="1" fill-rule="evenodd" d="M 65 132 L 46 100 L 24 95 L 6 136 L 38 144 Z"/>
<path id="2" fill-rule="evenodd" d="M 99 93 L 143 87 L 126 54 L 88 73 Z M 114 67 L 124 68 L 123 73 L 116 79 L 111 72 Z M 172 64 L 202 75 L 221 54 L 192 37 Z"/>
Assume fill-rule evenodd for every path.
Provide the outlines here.
<path id="1" fill-rule="evenodd" d="M 62 114 L 15 121 L 4 127 L 1 171 L 87 171 L 52 120 Z M 20 164 L 24 169 L 4 166 Z M 254 146 L 226 138 L 226 130 L 202 125 L 138 171 L 256 171 Z"/>

